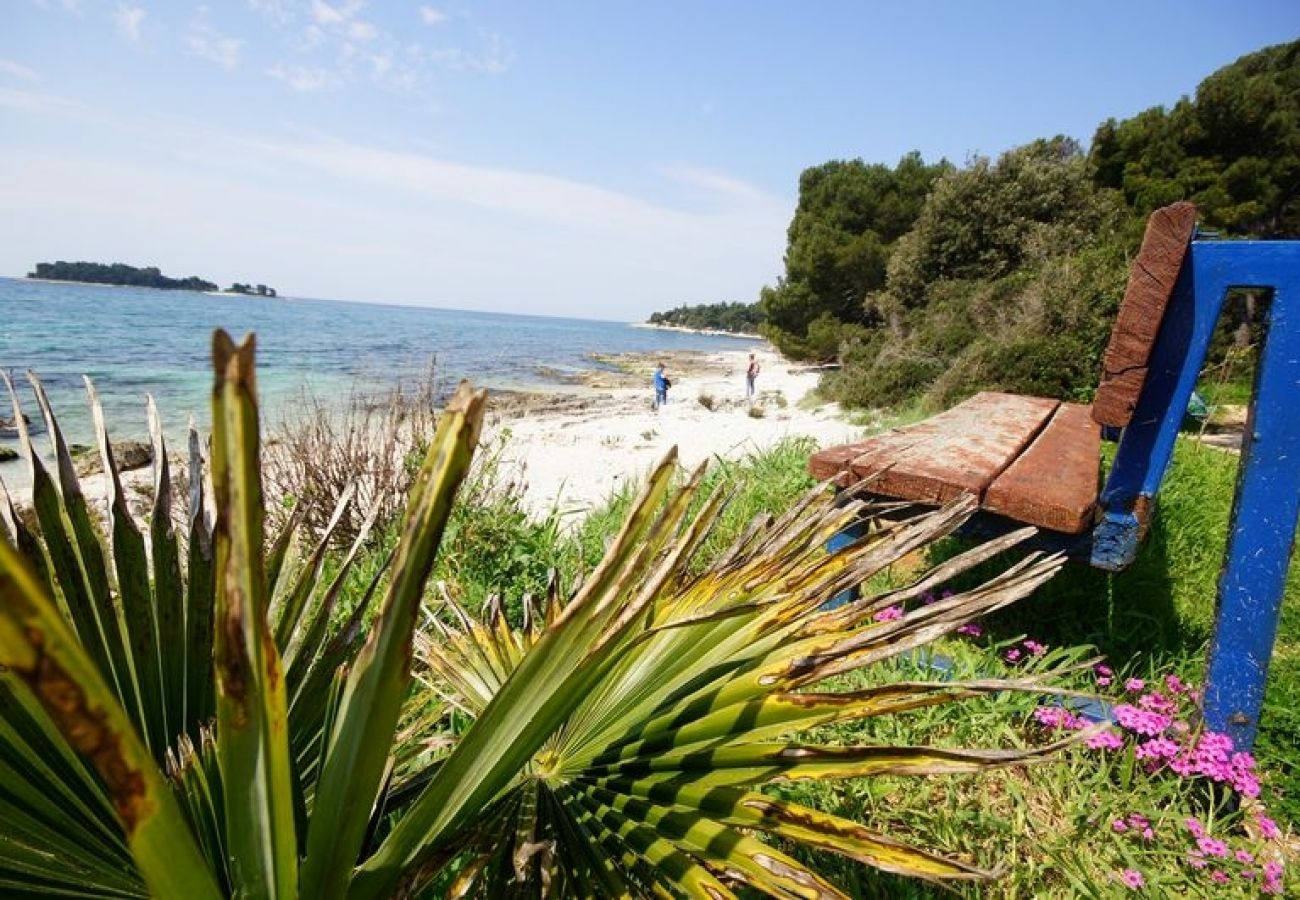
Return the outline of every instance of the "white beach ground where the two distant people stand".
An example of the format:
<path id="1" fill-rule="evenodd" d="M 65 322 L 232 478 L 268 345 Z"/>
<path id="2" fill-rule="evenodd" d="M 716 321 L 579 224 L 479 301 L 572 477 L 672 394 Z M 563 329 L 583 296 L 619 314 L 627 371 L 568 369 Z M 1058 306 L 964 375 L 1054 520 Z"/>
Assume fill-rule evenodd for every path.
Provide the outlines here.
<path id="1" fill-rule="evenodd" d="M 499 421 L 489 428 L 489 440 L 510 429 L 503 460 L 523 468 L 524 503 L 532 514 L 554 507 L 575 518 L 629 479 L 642 479 L 673 445 L 690 470 L 714 457 L 741 458 L 786 437 L 833 446 L 861 434 L 840 417 L 835 403 L 802 408 L 801 401 L 816 386 L 816 372 L 800 371 L 770 349 L 755 352 L 762 417 L 751 417 L 745 403 L 749 350 L 728 350 L 708 354 L 710 375 L 679 378 L 670 369 L 668 404 L 658 411 L 651 410 L 649 381 L 642 389 L 593 389 L 599 401 L 592 408 Z M 714 411 L 699 403 L 701 394 L 716 401 Z"/>

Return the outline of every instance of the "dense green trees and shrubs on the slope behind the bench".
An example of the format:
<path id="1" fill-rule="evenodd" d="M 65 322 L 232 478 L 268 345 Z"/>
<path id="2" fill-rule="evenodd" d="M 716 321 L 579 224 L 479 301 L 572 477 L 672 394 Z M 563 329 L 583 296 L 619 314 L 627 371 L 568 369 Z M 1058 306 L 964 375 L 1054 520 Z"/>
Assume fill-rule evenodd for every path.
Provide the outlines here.
<path id="1" fill-rule="evenodd" d="M 1216 72 L 1173 109 L 963 166 L 919 155 L 807 169 L 763 333 L 829 362 L 848 406 L 1000 389 L 1091 399 L 1147 216 L 1192 200 L 1227 237 L 1300 234 L 1300 42 Z M 1226 352 L 1256 303 L 1222 324 Z M 1249 324 L 1249 323 L 1248 323 Z M 1213 360 L 1212 360 L 1213 362 Z"/>

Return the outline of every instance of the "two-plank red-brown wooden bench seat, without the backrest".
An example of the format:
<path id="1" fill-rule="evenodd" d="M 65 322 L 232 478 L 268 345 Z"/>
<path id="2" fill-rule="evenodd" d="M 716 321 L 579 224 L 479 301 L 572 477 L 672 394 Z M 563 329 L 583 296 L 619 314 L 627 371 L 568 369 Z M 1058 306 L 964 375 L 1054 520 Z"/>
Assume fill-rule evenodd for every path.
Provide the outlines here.
<path id="1" fill-rule="evenodd" d="M 809 468 L 846 488 L 918 503 L 974 494 L 982 509 L 1079 535 L 1097 503 L 1101 428 L 1089 407 L 984 391 L 946 412 L 822 450 Z"/>

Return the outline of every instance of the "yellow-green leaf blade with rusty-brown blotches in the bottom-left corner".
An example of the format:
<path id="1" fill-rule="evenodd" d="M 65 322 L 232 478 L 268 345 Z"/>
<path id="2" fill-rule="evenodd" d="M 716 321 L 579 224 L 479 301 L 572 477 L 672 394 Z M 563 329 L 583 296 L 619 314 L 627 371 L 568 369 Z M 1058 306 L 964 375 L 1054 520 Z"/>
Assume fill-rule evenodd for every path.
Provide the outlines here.
<path id="1" fill-rule="evenodd" d="M 26 563 L 0 542 L 0 665 L 40 701 L 104 782 L 131 854 L 156 896 L 217 897 L 148 749 Z"/>

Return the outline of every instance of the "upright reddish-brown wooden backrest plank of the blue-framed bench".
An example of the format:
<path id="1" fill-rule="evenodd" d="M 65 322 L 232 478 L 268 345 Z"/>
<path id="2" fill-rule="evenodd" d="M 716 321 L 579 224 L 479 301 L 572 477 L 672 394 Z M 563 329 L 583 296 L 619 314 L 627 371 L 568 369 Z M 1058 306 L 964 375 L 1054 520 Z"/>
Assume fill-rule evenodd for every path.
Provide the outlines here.
<path id="1" fill-rule="evenodd" d="M 1092 403 L 1092 417 L 1102 425 L 1123 427 L 1132 417 L 1147 381 L 1150 349 L 1195 230 L 1196 207 L 1191 203 L 1174 203 L 1147 220 L 1147 234 L 1101 358 L 1101 385 Z"/>

